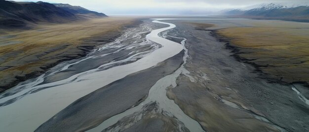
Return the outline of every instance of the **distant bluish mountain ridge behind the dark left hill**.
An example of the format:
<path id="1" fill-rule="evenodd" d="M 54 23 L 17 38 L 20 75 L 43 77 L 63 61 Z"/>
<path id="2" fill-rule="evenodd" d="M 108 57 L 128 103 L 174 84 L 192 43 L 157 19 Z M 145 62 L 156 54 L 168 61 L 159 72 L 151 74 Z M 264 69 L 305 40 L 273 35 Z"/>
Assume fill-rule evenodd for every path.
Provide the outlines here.
<path id="1" fill-rule="evenodd" d="M 100 16 L 100 17 L 107 17 L 107 15 L 105 15 L 103 13 L 91 11 L 91 10 L 88 10 L 88 9 L 80 7 L 80 6 L 73 6 L 73 5 L 64 4 L 64 3 L 54 3 L 54 5 L 56 7 L 62 8 L 66 11 L 69 11 L 73 14 L 94 14 L 94 15 Z"/>

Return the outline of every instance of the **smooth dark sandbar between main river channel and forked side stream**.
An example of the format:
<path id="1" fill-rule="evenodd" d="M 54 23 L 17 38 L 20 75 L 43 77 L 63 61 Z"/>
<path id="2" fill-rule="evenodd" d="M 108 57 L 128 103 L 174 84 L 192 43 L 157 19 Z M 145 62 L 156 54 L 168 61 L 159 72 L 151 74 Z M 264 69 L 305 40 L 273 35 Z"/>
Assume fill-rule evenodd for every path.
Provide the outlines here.
<path id="1" fill-rule="evenodd" d="M 128 75 L 76 100 L 42 124 L 36 132 L 76 132 L 89 130 L 146 99 L 149 89 L 182 63 L 184 52 L 153 68 Z"/>

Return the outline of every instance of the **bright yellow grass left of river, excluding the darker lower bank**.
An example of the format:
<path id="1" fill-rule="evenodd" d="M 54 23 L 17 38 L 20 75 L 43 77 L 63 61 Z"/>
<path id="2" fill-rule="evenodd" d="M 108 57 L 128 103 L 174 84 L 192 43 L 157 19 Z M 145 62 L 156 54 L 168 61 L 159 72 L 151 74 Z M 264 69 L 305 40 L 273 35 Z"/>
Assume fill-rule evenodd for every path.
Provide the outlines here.
<path id="1" fill-rule="evenodd" d="M 45 24 L 39 25 L 34 30 L 7 32 L 16 37 L 3 39 L 2 42 L 22 41 L 22 43 L 0 46 L 0 55 L 14 50 L 29 51 L 38 46 L 52 47 L 64 43 L 79 45 L 85 38 L 119 31 L 121 26 L 132 21 L 132 18 L 102 18 L 68 24 Z"/>

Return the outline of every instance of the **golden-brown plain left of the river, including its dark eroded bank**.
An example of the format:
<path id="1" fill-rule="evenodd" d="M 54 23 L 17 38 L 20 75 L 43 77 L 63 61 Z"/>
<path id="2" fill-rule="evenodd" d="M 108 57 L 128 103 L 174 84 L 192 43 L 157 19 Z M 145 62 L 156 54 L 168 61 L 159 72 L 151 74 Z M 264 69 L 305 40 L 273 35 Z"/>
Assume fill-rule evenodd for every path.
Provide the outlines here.
<path id="1" fill-rule="evenodd" d="M 69 24 L 38 25 L 32 30 L 2 31 L 0 93 L 38 77 L 57 64 L 86 56 L 94 47 L 114 41 L 134 18 L 91 19 Z"/>

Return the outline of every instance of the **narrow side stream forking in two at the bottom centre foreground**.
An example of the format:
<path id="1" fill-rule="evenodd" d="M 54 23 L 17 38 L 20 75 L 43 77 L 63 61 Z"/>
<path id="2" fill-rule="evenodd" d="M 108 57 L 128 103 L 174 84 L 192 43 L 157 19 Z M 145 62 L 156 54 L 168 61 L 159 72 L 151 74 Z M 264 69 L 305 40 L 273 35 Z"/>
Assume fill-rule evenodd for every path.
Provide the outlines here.
<path id="1" fill-rule="evenodd" d="M 158 22 L 158 21 L 154 21 Z M 160 22 L 163 23 L 163 22 Z M 166 23 L 164 23 L 166 24 Z M 174 27 L 174 26 L 173 26 Z M 191 132 L 204 132 L 204 130 L 201 128 L 201 126 L 198 124 L 197 121 L 190 118 L 188 115 L 186 115 L 180 107 L 174 102 L 174 100 L 168 99 L 166 96 L 166 89 L 167 88 L 175 88 L 176 87 L 176 79 L 180 74 L 185 74 L 189 78 L 192 78 L 188 73 L 190 73 L 184 65 L 187 63 L 188 59 L 188 49 L 185 47 L 185 41 L 186 38 L 182 38 L 181 45 L 183 46 L 183 49 L 185 50 L 185 55 L 183 57 L 184 63 L 172 74 L 167 75 L 160 80 L 158 80 L 154 86 L 150 89 L 147 99 L 145 99 L 143 102 L 141 102 L 138 106 L 135 106 L 131 109 L 126 110 L 125 112 L 122 112 L 118 115 L 115 115 L 108 120 L 105 120 L 101 125 L 98 127 L 91 129 L 87 132 L 101 132 L 103 130 L 106 130 L 108 127 L 114 125 L 119 121 L 120 119 L 124 117 L 128 117 L 130 115 L 135 116 L 135 122 L 140 120 L 140 116 L 137 116 L 139 114 L 136 113 L 142 113 L 143 107 L 147 105 L 151 105 L 153 102 L 156 102 L 158 104 L 158 109 L 161 109 L 163 113 L 165 113 L 165 116 L 169 117 L 175 117 L 179 123 L 179 131 L 183 131 L 182 128 L 186 127 Z M 171 86 L 171 87 L 170 87 Z M 134 124 L 134 123 L 133 123 Z M 133 125 L 131 124 L 131 125 Z M 184 125 L 184 126 L 182 126 Z M 118 132 L 118 128 L 112 129 L 112 132 Z"/>

